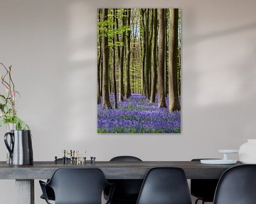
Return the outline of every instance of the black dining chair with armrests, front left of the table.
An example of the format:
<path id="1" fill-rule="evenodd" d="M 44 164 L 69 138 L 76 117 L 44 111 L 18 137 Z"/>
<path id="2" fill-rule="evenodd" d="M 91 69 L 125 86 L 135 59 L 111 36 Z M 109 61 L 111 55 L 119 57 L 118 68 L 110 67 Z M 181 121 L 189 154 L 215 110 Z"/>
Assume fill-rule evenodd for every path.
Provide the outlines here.
<path id="1" fill-rule="evenodd" d="M 46 203 L 49 204 L 46 186 L 53 188 L 55 204 L 102 204 L 104 189 L 112 186 L 110 198 L 114 190 L 100 169 L 57 169 L 47 183 L 39 183 Z"/>

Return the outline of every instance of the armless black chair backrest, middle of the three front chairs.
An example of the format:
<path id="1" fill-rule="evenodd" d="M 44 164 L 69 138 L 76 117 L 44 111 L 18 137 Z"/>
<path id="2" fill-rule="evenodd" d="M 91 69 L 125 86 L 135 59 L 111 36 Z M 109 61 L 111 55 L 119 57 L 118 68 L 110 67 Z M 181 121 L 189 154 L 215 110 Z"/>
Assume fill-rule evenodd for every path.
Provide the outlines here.
<path id="1" fill-rule="evenodd" d="M 191 204 L 183 169 L 156 167 L 146 174 L 137 204 Z"/>

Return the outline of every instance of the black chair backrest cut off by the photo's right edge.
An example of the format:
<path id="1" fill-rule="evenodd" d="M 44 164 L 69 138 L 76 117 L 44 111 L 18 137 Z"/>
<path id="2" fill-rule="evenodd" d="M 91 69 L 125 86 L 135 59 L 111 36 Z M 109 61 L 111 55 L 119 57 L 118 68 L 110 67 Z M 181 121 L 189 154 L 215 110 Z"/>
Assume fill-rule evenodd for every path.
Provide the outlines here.
<path id="1" fill-rule="evenodd" d="M 218 183 L 215 204 L 255 204 L 256 165 L 234 166 L 223 173 Z"/>

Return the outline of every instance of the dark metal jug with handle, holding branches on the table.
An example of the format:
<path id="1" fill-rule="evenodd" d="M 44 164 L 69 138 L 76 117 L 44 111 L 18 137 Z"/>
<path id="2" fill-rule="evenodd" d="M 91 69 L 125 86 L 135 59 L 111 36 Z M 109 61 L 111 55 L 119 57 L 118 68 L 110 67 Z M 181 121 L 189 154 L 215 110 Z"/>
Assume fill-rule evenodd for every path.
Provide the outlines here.
<path id="1" fill-rule="evenodd" d="M 9 164 L 33 164 L 33 149 L 30 130 L 11 130 L 11 132 L 6 132 L 4 135 L 4 143 L 10 153 Z"/>

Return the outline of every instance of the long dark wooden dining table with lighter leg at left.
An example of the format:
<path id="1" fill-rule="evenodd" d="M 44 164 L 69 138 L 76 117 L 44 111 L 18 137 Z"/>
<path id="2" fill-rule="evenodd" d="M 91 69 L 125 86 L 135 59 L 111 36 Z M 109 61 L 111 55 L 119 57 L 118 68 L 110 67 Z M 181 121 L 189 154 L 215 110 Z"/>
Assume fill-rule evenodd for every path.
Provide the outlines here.
<path id="1" fill-rule="evenodd" d="M 34 162 L 33 165 L 10 165 L 0 162 L 0 179 L 16 180 L 16 203 L 34 204 L 34 179 L 50 179 L 59 168 L 99 168 L 107 179 L 144 179 L 146 172 L 157 166 L 179 167 L 187 179 L 219 179 L 233 165 L 201 164 L 200 161 L 159 162 L 95 162 L 91 164 L 63 164 L 62 162 Z"/>

